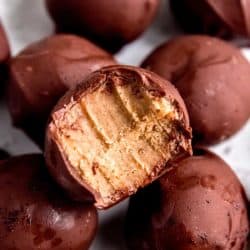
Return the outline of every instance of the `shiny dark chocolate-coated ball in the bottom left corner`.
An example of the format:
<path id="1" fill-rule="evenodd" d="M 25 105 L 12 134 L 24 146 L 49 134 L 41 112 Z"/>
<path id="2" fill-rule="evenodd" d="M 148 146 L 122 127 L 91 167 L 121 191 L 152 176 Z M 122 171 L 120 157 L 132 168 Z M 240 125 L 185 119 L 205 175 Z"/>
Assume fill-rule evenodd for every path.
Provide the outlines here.
<path id="1" fill-rule="evenodd" d="M 0 186 L 0 249 L 89 249 L 96 209 L 68 200 L 50 179 L 42 155 L 1 163 Z"/>

